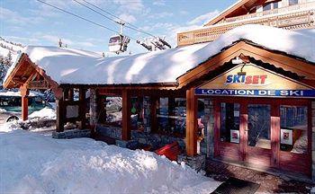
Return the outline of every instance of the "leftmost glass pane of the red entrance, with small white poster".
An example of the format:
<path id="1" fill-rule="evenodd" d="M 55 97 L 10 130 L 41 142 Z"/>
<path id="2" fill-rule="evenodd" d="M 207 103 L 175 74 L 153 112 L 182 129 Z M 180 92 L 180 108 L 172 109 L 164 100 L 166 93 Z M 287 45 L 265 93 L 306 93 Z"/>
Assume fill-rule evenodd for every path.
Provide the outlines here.
<path id="1" fill-rule="evenodd" d="M 220 103 L 220 141 L 239 144 L 239 104 Z"/>

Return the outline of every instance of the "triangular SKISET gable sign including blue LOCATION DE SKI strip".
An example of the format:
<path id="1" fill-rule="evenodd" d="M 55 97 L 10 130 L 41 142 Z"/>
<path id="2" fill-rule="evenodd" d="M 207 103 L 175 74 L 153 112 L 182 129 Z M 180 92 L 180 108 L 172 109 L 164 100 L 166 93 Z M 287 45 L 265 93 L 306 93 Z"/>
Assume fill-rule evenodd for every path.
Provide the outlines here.
<path id="1" fill-rule="evenodd" d="M 238 72 L 242 71 L 242 74 Z M 315 90 L 256 65 L 237 66 L 195 89 L 196 95 L 315 97 Z"/>

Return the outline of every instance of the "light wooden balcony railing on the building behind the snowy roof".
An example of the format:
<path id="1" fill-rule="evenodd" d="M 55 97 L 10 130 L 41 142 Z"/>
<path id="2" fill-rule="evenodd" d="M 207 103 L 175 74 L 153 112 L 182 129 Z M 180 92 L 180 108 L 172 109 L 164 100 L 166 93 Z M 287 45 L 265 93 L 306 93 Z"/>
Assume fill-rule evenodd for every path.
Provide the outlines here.
<path id="1" fill-rule="evenodd" d="M 295 4 L 261 13 L 228 18 L 208 28 L 177 34 L 177 45 L 191 45 L 216 40 L 221 34 L 245 24 L 262 24 L 287 30 L 315 27 L 315 2 Z"/>

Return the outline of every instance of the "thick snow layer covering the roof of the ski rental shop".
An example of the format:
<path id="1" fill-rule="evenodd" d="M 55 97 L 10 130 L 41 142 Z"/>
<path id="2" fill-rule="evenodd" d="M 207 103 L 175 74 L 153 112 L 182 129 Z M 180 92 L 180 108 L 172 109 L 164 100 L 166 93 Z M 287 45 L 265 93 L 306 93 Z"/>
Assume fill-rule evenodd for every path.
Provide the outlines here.
<path id="1" fill-rule="evenodd" d="M 173 83 L 238 40 L 315 62 L 315 29 L 286 31 L 255 24 L 235 28 L 210 43 L 125 57 L 103 58 L 93 52 L 55 47 L 28 47 L 24 53 L 58 84 Z"/>

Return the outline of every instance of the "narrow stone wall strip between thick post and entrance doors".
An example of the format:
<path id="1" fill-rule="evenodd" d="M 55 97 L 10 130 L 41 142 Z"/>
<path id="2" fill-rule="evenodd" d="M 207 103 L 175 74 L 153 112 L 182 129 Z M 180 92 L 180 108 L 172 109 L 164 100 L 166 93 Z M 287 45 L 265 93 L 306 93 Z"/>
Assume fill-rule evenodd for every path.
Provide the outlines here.
<path id="1" fill-rule="evenodd" d="M 201 142 L 201 154 L 213 157 L 214 154 L 214 114 L 213 104 L 210 99 L 204 99 L 204 139 Z"/>

